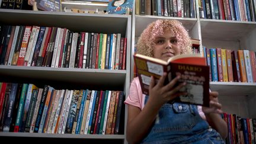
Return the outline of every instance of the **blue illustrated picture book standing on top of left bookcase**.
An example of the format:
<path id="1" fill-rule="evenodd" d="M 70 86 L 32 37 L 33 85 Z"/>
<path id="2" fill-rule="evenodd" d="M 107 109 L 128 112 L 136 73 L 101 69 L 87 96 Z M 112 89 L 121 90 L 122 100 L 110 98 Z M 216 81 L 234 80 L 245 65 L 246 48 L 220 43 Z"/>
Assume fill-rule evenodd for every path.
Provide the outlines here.
<path id="1" fill-rule="evenodd" d="M 108 14 L 132 14 L 132 0 L 110 0 L 108 2 Z"/>

